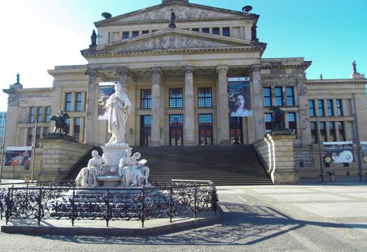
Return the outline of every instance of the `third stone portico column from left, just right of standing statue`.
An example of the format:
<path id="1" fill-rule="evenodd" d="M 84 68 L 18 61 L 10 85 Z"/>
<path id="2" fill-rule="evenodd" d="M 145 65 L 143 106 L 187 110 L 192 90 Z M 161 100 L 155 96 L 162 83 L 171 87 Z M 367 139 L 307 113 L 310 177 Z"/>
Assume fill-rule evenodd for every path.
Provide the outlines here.
<path id="1" fill-rule="evenodd" d="M 160 146 L 160 68 L 151 68 L 152 71 L 152 128 L 151 146 Z"/>

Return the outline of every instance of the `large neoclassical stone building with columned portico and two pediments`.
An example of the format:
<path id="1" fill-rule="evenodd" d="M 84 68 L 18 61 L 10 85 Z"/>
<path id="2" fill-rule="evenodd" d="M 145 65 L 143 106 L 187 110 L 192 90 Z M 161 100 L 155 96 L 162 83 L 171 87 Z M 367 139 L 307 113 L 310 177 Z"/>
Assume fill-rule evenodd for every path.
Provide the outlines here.
<path id="1" fill-rule="evenodd" d="M 358 124 L 359 138 L 367 140 L 364 75 L 307 80 L 311 61 L 303 57 L 264 59 L 267 44 L 256 36 L 259 16 L 248 8 L 163 0 L 103 16 L 81 51 L 87 65 L 55 66 L 49 70 L 52 88 L 17 82 L 4 90 L 6 146 L 30 146 L 36 134 L 42 153 L 39 140 L 52 131 L 49 116 L 59 110 L 71 116 L 69 135 L 80 143 L 106 143 L 110 135 L 107 121 L 99 120 L 99 105 L 100 83 L 108 82 L 121 83 L 132 102 L 126 126 L 131 146 L 227 145 L 234 139 L 252 144 L 271 131 L 270 108 L 279 106 L 284 126 L 296 136 L 294 166 L 311 178 L 317 176 L 318 128 L 322 140 L 354 140 Z M 230 78 L 249 78 L 244 98 L 251 116 L 231 116 Z"/>

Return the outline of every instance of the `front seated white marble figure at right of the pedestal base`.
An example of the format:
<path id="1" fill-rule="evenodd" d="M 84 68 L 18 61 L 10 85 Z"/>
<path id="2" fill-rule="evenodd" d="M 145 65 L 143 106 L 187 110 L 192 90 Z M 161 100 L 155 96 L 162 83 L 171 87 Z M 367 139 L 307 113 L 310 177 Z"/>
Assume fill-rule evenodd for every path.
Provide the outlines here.
<path id="1" fill-rule="evenodd" d="M 126 150 L 125 157 L 119 162 L 120 186 L 135 187 L 144 186 L 145 176 L 137 169 L 136 162 L 131 158 L 131 150 Z"/>

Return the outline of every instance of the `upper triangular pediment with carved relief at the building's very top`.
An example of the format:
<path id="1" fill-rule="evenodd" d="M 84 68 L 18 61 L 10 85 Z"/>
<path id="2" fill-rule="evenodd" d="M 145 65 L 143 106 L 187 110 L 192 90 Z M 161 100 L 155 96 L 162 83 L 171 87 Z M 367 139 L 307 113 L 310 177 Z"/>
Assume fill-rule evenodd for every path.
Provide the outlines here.
<path id="1" fill-rule="evenodd" d="M 119 25 L 121 23 L 131 22 L 150 22 L 169 20 L 171 10 L 174 10 L 176 22 L 179 20 L 198 20 L 203 18 L 238 18 L 243 16 L 251 16 L 253 14 L 243 13 L 241 11 L 231 11 L 224 8 L 215 8 L 200 4 L 186 4 L 173 1 L 171 4 L 160 4 L 150 8 L 144 8 L 139 11 L 133 11 L 124 15 L 101 20 L 95 25 Z"/>

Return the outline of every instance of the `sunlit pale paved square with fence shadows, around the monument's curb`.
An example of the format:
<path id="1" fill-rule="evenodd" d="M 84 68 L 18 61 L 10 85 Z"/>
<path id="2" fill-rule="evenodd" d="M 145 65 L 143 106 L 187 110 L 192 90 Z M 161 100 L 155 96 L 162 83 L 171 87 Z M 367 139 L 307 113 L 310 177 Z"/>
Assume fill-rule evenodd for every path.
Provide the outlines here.
<path id="1" fill-rule="evenodd" d="M 156 236 L 0 233 L 0 251 L 367 251 L 367 184 L 220 186 L 222 221 Z"/>

